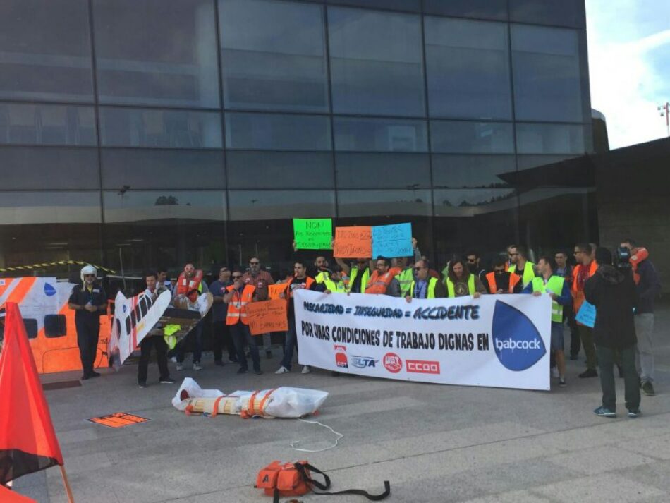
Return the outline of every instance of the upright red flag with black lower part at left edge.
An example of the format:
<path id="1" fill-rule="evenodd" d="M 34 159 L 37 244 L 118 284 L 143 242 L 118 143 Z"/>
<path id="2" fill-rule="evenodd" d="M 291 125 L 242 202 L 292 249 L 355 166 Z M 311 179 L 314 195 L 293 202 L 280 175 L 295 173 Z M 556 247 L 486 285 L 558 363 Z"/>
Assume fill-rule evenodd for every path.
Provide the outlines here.
<path id="1" fill-rule="evenodd" d="M 5 308 L 0 354 L 0 484 L 63 464 L 20 310 L 13 302 Z"/>

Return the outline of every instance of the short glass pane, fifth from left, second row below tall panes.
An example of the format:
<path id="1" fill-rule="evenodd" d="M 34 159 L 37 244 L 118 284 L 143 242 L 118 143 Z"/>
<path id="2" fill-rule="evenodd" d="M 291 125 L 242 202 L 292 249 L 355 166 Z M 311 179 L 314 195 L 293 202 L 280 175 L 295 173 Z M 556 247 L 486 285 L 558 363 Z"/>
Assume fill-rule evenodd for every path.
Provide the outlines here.
<path id="1" fill-rule="evenodd" d="M 513 155 L 432 156 L 434 187 L 497 187 L 507 183 L 499 174 L 516 171 Z"/>

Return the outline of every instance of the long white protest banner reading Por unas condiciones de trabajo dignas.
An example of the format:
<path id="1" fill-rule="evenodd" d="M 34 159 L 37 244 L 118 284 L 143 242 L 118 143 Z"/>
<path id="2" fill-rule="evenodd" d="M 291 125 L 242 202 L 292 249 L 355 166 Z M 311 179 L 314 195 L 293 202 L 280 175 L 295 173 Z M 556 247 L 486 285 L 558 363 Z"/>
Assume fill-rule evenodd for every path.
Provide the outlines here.
<path id="1" fill-rule="evenodd" d="M 414 299 L 296 290 L 301 365 L 370 377 L 549 389 L 551 298 Z"/>

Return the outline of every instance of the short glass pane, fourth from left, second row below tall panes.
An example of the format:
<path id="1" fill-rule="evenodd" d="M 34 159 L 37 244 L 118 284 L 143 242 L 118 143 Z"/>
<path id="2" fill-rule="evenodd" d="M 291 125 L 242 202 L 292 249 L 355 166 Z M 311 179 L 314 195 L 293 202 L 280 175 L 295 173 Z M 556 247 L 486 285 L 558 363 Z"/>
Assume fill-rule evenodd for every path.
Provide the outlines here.
<path id="1" fill-rule="evenodd" d="M 430 187 L 427 154 L 338 152 L 338 188 Z"/>

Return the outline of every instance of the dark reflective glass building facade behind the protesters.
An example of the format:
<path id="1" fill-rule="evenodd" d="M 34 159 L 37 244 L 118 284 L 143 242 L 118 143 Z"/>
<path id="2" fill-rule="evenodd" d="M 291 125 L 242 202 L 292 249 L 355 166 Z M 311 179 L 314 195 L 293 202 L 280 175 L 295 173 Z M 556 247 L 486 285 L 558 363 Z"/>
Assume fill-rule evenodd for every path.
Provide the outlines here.
<path id="1" fill-rule="evenodd" d="M 523 171 L 591 150 L 583 0 L 0 4 L 0 267 L 285 267 L 293 217 L 539 253 L 593 189 Z"/>

